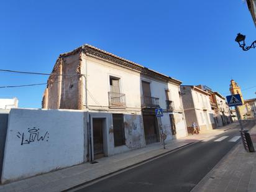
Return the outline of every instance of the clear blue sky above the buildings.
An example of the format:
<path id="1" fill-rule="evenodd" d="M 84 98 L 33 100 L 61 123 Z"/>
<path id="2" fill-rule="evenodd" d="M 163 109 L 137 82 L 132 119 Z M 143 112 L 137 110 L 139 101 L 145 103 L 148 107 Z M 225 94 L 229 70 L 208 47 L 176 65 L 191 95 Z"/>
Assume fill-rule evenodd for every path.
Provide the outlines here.
<path id="1" fill-rule="evenodd" d="M 183 85 L 207 85 L 223 96 L 231 78 L 255 98 L 256 49 L 234 41 L 256 29 L 242 0 L 1 1 L 0 69 L 50 73 L 60 53 L 89 43 L 147 66 Z M 48 76 L 0 72 L 0 86 L 46 83 Z M 40 108 L 45 85 L 1 88 L 0 98 Z"/>

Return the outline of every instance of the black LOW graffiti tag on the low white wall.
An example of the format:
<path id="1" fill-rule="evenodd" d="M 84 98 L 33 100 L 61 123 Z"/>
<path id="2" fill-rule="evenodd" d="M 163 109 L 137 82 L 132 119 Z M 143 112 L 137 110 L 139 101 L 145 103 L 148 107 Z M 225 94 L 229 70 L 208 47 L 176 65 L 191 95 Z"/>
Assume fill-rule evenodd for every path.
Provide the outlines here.
<path id="1" fill-rule="evenodd" d="M 48 142 L 49 139 L 48 131 L 44 134 L 41 134 L 40 130 L 35 129 L 35 127 L 33 127 L 32 129 L 28 128 L 27 132 L 22 132 L 22 134 L 18 131 L 16 136 L 21 139 L 21 145 L 30 144 L 32 142 L 40 142 L 45 139 Z"/>

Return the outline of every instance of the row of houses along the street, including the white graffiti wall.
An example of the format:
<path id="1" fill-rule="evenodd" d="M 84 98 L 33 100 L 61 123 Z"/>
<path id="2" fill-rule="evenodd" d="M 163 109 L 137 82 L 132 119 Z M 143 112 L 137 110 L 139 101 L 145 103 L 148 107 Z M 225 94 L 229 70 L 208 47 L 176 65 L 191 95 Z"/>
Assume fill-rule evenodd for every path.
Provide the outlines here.
<path id="1" fill-rule="evenodd" d="M 224 96 L 208 86 L 182 85 L 91 45 L 58 57 L 42 109 L 2 108 L 2 183 L 185 137 L 193 122 L 199 134 L 232 122 Z"/>

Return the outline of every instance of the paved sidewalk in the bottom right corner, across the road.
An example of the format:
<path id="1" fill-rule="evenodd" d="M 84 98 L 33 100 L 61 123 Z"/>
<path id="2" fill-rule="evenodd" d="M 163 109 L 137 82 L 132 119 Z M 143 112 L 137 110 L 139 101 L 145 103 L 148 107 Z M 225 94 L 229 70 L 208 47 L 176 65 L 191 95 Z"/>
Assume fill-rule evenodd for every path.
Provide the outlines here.
<path id="1" fill-rule="evenodd" d="M 256 125 L 250 135 L 256 149 Z M 240 140 L 191 191 L 256 191 L 256 153 L 246 152 Z"/>

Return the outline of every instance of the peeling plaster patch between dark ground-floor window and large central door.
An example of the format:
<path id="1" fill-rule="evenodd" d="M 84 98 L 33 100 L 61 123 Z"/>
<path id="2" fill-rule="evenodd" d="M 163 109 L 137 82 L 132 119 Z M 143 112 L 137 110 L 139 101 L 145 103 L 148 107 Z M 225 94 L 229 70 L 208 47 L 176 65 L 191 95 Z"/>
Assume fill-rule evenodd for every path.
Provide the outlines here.
<path id="1" fill-rule="evenodd" d="M 126 145 L 129 149 L 145 147 L 144 129 L 141 115 L 124 114 Z"/>

